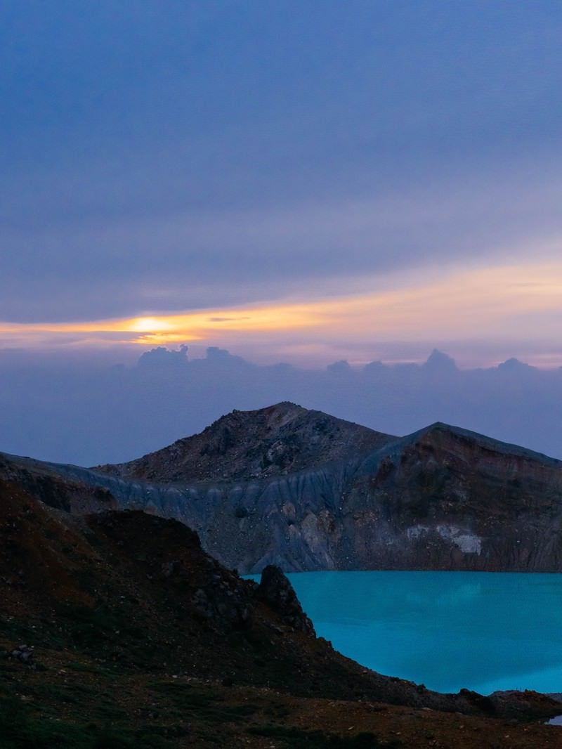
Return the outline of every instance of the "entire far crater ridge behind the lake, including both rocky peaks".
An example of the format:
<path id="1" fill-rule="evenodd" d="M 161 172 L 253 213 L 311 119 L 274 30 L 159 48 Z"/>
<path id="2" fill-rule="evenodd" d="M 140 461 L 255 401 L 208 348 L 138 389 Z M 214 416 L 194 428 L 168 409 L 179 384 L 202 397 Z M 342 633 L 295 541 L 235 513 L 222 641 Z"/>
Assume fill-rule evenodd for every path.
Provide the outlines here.
<path id="1" fill-rule="evenodd" d="M 236 437 L 216 452 L 226 427 Z M 291 404 L 230 414 L 208 442 L 204 435 L 181 441 L 177 465 L 178 443 L 97 470 L 4 455 L 0 476 L 18 477 L 47 503 L 58 486 L 73 512 L 135 508 L 178 518 L 241 572 L 271 563 L 285 571 L 562 570 L 561 461 L 444 424 L 390 438 Z M 291 461 L 264 467 L 278 443 L 293 446 Z M 190 475 L 185 456 L 194 452 L 203 461 L 193 473 L 212 463 L 211 476 L 172 482 Z"/>

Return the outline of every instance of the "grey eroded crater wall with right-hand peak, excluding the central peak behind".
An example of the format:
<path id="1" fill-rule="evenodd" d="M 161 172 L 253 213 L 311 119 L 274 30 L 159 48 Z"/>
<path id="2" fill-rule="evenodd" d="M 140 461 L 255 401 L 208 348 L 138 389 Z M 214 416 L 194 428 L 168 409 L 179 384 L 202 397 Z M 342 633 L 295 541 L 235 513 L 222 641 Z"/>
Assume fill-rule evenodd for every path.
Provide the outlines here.
<path id="1" fill-rule="evenodd" d="M 562 462 L 442 424 L 309 470 L 246 480 L 163 484 L 49 471 L 88 487 L 88 497 L 103 491 L 101 505 L 178 518 L 244 573 L 268 564 L 562 571 Z"/>

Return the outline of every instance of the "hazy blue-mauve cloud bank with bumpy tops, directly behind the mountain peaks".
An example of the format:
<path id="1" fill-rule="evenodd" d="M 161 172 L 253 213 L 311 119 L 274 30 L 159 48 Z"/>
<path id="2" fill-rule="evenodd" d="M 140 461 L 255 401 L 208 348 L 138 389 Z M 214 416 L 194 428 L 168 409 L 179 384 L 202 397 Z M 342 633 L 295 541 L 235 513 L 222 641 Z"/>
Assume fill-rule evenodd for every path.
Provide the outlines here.
<path id="1" fill-rule="evenodd" d="M 190 359 L 154 348 L 127 366 L 0 356 L 0 450 L 81 465 L 120 462 L 202 431 L 232 409 L 293 401 L 389 434 L 435 421 L 562 458 L 562 369 L 511 359 L 459 369 L 345 361 L 322 370 L 259 366 L 224 349 Z M 88 363 L 89 362 L 89 363 Z"/>

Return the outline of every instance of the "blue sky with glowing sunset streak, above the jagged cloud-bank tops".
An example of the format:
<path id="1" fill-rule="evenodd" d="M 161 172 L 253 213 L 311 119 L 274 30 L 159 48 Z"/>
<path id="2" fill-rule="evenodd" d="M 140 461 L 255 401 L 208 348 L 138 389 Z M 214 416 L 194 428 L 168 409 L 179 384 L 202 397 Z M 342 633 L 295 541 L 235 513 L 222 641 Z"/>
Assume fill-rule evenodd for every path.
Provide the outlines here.
<path id="1" fill-rule="evenodd" d="M 558 0 L 4 0 L 0 351 L 561 366 L 561 48 Z"/>

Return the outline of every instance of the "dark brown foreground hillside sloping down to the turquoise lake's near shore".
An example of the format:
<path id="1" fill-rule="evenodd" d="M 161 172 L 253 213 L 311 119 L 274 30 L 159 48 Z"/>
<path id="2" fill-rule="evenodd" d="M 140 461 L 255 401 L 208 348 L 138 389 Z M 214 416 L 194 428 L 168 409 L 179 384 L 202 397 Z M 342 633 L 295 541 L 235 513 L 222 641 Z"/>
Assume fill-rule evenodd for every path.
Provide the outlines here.
<path id="1" fill-rule="evenodd" d="M 277 568 L 257 586 L 177 521 L 70 516 L 7 481 L 0 649 L 1 749 L 562 745 L 547 697 L 440 695 L 343 658 Z"/>

